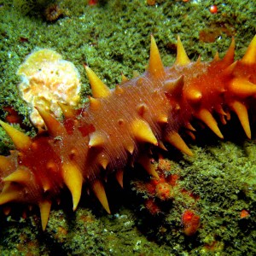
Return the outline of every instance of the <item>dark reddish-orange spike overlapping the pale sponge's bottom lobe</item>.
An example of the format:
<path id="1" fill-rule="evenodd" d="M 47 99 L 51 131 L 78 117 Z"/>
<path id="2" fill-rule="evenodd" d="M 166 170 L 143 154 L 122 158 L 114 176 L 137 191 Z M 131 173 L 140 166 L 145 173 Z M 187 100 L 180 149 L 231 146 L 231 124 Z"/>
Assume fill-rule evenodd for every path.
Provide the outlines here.
<path id="1" fill-rule="evenodd" d="M 60 136 L 65 132 L 63 125 L 55 119 L 49 112 L 45 111 L 43 108 L 38 108 L 38 113 L 41 115 L 44 123 L 49 131 L 49 134 L 53 137 Z"/>

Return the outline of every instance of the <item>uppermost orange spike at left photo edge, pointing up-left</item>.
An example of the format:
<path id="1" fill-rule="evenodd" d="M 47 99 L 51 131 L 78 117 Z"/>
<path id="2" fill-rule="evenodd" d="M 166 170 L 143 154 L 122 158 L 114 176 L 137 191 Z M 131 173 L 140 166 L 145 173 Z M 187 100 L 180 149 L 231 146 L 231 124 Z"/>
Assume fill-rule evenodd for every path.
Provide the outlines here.
<path id="1" fill-rule="evenodd" d="M 13 126 L 4 123 L 2 120 L 0 120 L 0 125 L 2 125 L 4 131 L 7 132 L 13 143 L 15 143 L 16 148 L 20 150 L 26 150 L 30 147 L 32 139 L 26 136 L 26 134 L 16 130 Z"/>

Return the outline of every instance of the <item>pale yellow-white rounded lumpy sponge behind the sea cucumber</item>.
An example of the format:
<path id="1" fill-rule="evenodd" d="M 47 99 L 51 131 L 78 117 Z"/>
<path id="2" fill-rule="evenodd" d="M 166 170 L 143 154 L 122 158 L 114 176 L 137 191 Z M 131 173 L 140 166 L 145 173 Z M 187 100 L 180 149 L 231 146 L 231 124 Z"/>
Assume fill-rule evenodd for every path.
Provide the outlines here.
<path id="1" fill-rule="evenodd" d="M 38 128 L 44 128 L 44 120 L 34 107 L 44 108 L 59 118 L 58 102 L 73 107 L 79 104 L 79 71 L 52 49 L 39 49 L 28 55 L 17 74 L 22 78 L 18 85 L 21 97 L 32 108 L 30 119 Z"/>

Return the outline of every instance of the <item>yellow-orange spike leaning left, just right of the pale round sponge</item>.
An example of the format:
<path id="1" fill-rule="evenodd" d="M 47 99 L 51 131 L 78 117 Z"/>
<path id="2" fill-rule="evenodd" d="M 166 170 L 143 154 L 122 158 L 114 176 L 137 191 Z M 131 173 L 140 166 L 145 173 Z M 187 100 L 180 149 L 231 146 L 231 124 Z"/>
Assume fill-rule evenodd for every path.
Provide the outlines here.
<path id="1" fill-rule="evenodd" d="M 90 81 L 92 96 L 95 98 L 105 98 L 110 96 L 111 90 L 96 76 L 96 73 L 94 73 L 88 66 L 85 66 L 84 68 Z"/>

